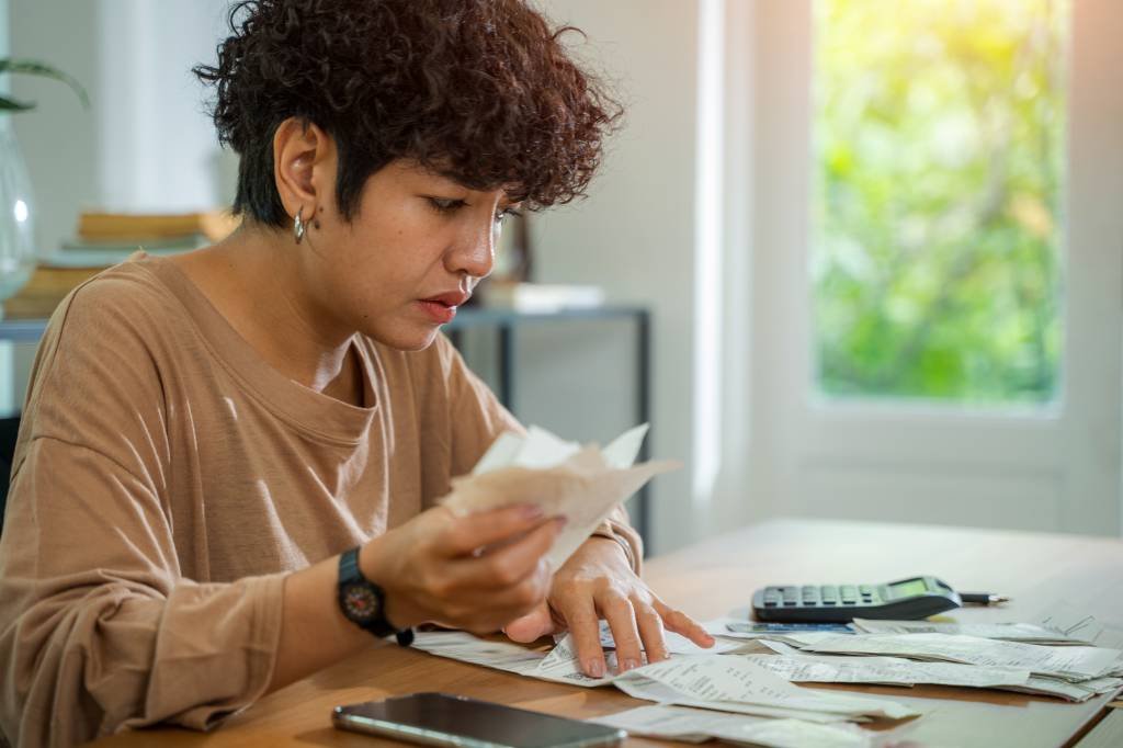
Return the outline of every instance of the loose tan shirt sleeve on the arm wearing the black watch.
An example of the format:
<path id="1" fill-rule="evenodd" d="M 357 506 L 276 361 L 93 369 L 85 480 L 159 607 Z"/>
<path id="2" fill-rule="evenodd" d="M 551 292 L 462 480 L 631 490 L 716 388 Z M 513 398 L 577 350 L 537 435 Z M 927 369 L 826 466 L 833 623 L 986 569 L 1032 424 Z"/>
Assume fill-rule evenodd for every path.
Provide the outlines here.
<path id="1" fill-rule="evenodd" d="M 0 536 L 0 730 L 73 745 L 156 722 L 207 729 L 256 700 L 282 574 L 181 574 L 150 321 L 81 286 L 40 345 Z"/>

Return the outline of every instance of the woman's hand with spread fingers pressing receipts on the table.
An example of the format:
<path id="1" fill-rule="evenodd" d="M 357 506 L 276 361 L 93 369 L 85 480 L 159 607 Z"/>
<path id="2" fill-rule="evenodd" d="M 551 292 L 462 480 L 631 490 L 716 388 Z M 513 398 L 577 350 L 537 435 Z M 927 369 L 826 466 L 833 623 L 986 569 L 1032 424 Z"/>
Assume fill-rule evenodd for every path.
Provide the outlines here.
<path id="1" fill-rule="evenodd" d="M 620 672 L 667 658 L 664 630 L 681 633 L 700 647 L 713 637 L 694 619 L 668 608 L 631 568 L 623 548 L 610 538 L 593 536 L 554 575 L 547 602 L 503 630 L 514 641 L 563 631 L 573 633 L 581 669 L 600 678 L 608 668 L 601 649 L 601 619 L 609 622 L 617 644 Z"/>

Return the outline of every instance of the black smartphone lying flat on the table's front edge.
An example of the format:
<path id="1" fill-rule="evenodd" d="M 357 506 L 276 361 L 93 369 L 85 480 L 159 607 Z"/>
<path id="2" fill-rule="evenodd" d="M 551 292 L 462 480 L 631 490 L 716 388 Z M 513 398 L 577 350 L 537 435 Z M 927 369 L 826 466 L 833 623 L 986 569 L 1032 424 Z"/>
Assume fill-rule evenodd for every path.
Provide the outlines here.
<path id="1" fill-rule="evenodd" d="M 331 721 L 341 730 L 456 748 L 585 748 L 628 737 L 617 728 L 446 693 L 336 706 Z"/>

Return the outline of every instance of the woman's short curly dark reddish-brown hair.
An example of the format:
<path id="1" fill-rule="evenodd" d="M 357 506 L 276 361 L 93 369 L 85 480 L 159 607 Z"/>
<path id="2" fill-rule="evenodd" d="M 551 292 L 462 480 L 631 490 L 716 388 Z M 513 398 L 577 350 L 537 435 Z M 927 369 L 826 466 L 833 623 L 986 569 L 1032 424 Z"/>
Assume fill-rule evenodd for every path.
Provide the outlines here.
<path id="1" fill-rule="evenodd" d="M 522 0 L 244 0 L 214 84 L 219 142 L 240 156 L 234 211 L 290 220 L 273 135 L 290 117 L 337 143 L 339 212 L 411 158 L 469 189 L 504 189 L 531 210 L 583 197 L 622 108 Z"/>

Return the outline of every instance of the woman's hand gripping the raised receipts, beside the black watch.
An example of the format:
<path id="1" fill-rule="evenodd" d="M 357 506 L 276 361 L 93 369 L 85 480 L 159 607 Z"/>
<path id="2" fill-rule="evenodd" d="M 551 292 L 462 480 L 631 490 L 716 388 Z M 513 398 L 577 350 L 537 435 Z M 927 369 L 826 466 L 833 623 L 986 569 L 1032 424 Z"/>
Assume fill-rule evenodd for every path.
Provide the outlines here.
<path id="1" fill-rule="evenodd" d="M 545 555 L 563 523 L 530 504 L 466 517 L 437 507 L 367 542 L 359 568 L 385 591 L 394 627 L 432 622 L 487 633 L 546 599 Z"/>

